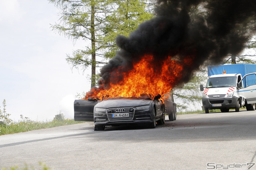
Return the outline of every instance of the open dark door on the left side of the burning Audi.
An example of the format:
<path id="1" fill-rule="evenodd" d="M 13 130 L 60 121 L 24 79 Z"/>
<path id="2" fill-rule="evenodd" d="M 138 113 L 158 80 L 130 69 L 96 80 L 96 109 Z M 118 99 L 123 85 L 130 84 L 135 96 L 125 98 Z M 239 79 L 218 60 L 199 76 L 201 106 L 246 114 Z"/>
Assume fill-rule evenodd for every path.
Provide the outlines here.
<path id="1" fill-rule="evenodd" d="M 74 101 L 74 120 L 75 121 L 94 121 L 93 110 L 98 103 L 97 100 L 75 100 Z"/>

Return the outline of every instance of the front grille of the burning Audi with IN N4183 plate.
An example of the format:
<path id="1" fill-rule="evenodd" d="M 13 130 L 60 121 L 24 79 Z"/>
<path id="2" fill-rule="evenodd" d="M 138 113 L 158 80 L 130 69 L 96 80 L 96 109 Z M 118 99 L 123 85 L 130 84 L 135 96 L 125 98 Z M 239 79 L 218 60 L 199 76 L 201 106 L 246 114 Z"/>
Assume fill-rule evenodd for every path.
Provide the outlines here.
<path id="1" fill-rule="evenodd" d="M 107 110 L 108 120 L 109 121 L 123 121 L 123 120 L 132 120 L 134 117 L 134 108 L 125 107 L 125 108 L 111 108 Z M 129 117 L 112 117 L 113 113 L 128 113 Z"/>

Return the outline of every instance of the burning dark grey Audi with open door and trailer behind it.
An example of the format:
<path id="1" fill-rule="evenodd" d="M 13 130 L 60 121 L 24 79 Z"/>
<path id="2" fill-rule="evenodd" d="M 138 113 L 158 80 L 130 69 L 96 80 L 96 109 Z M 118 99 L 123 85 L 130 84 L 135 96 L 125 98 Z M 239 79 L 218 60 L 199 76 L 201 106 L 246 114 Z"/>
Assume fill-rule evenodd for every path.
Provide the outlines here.
<path id="1" fill-rule="evenodd" d="M 176 104 L 168 99 L 162 101 L 160 97 L 153 100 L 149 97 L 75 100 L 74 120 L 94 121 L 94 130 L 104 130 L 105 126 L 141 124 L 155 128 L 156 123 L 165 123 L 165 114 L 170 121 L 176 120 Z"/>

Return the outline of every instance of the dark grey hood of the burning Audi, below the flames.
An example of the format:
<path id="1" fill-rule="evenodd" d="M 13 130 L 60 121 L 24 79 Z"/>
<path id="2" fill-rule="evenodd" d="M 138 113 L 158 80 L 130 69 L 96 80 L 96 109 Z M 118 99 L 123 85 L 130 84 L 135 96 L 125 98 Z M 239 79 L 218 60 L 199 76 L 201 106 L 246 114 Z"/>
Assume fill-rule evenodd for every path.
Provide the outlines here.
<path id="1" fill-rule="evenodd" d="M 150 105 L 150 102 L 152 102 L 152 99 L 150 98 L 125 98 L 125 97 L 117 97 L 112 99 L 104 100 L 95 107 L 101 107 L 101 108 L 113 108 L 113 107 L 137 107 L 137 106 L 143 106 L 143 105 Z"/>

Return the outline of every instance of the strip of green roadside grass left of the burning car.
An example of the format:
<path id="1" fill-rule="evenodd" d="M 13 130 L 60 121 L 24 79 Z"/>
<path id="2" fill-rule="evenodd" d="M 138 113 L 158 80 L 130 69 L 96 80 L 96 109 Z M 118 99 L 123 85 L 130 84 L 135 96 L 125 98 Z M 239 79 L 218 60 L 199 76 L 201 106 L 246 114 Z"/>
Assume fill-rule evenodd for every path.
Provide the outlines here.
<path id="1" fill-rule="evenodd" d="M 10 125 L 0 125 L 0 135 L 13 134 L 19 132 L 27 132 L 31 130 L 38 130 L 42 128 L 52 128 L 64 125 L 73 125 L 78 123 L 84 123 L 80 121 L 74 121 L 74 119 L 65 119 L 64 121 L 49 122 L 37 122 L 37 121 L 19 121 L 18 123 L 11 123 Z"/>

